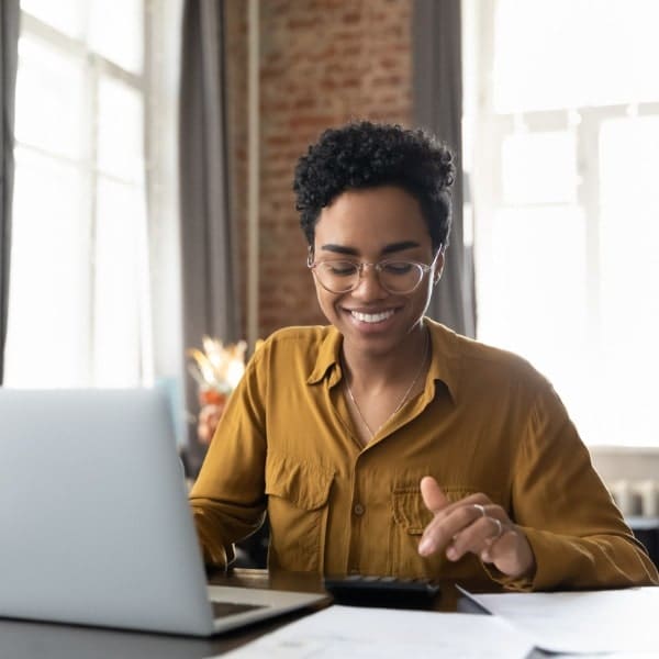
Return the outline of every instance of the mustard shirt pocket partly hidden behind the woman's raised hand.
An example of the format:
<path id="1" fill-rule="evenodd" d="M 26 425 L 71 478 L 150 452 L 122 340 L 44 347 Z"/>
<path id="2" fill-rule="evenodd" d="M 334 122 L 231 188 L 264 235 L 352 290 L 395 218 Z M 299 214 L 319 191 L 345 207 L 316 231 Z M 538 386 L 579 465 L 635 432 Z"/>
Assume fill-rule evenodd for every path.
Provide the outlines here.
<path id="1" fill-rule="evenodd" d="M 476 493 L 476 490 L 468 488 L 443 487 L 443 491 L 450 502 Z M 423 503 L 421 489 L 417 485 L 393 490 L 392 513 L 390 557 L 393 574 L 426 579 L 455 579 L 483 574 L 480 560 L 471 554 L 463 556 L 457 562 L 449 561 L 443 549 L 432 556 L 420 556 L 421 536 L 434 515 Z"/>

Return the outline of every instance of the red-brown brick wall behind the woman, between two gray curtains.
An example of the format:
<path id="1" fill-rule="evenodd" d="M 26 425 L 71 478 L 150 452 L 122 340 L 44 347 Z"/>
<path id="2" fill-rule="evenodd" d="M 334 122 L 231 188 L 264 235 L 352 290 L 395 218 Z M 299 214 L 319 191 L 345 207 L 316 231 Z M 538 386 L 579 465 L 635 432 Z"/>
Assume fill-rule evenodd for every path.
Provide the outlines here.
<path id="1" fill-rule="evenodd" d="M 245 294 L 246 2 L 226 2 L 233 212 Z M 409 124 L 413 0 L 261 0 L 259 328 L 324 323 L 305 267 L 293 168 L 320 133 L 351 119 Z M 245 319 L 244 319 L 245 321 Z M 245 324 L 244 324 L 245 327 Z"/>

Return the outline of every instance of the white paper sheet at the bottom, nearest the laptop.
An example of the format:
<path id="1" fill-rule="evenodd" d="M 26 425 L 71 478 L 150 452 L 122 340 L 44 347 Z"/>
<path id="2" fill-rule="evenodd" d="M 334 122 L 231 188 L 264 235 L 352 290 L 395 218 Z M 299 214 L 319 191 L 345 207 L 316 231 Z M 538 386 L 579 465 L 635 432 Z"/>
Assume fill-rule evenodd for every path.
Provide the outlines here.
<path id="1" fill-rule="evenodd" d="M 532 643 L 489 615 L 330 606 L 223 655 L 232 659 L 516 659 Z"/>

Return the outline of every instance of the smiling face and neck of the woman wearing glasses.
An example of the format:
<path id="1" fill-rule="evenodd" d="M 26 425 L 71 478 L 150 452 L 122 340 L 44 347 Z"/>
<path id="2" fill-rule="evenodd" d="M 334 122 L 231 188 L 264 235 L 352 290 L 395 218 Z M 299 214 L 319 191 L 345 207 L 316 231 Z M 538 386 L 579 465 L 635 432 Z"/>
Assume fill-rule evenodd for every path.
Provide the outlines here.
<path id="1" fill-rule="evenodd" d="M 444 263 L 440 250 L 433 254 L 431 235 L 416 199 L 393 186 L 344 192 L 321 211 L 312 250 L 321 268 L 331 266 L 337 254 L 349 254 L 355 259 L 351 263 L 357 264 L 357 279 L 353 279 L 357 286 L 343 291 L 323 286 L 327 282 L 326 269 L 324 276 L 313 269 L 321 310 L 344 336 L 346 361 L 351 364 L 364 351 L 390 360 L 399 377 L 414 368 L 424 345 L 425 328 L 421 320 Z M 424 267 L 403 268 L 407 270 L 404 277 L 391 272 L 383 276 L 382 263 L 391 258 L 406 258 Z M 365 263 L 378 265 L 365 268 Z M 395 291 L 384 286 L 392 277 Z M 389 379 L 389 373 L 386 378 Z M 373 380 L 370 388 L 377 390 L 373 394 L 379 394 L 378 409 L 386 406 L 382 395 L 400 398 L 398 392 L 379 387 Z"/>

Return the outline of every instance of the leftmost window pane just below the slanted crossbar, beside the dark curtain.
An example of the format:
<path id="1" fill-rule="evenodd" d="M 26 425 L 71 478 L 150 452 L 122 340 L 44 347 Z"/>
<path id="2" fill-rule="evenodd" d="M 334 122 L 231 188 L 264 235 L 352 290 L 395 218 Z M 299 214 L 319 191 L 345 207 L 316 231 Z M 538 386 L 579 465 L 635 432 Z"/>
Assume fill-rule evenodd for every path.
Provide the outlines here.
<path id="1" fill-rule="evenodd" d="M 54 154 L 82 158 L 86 80 L 81 58 L 35 38 L 19 42 L 16 139 Z"/>

